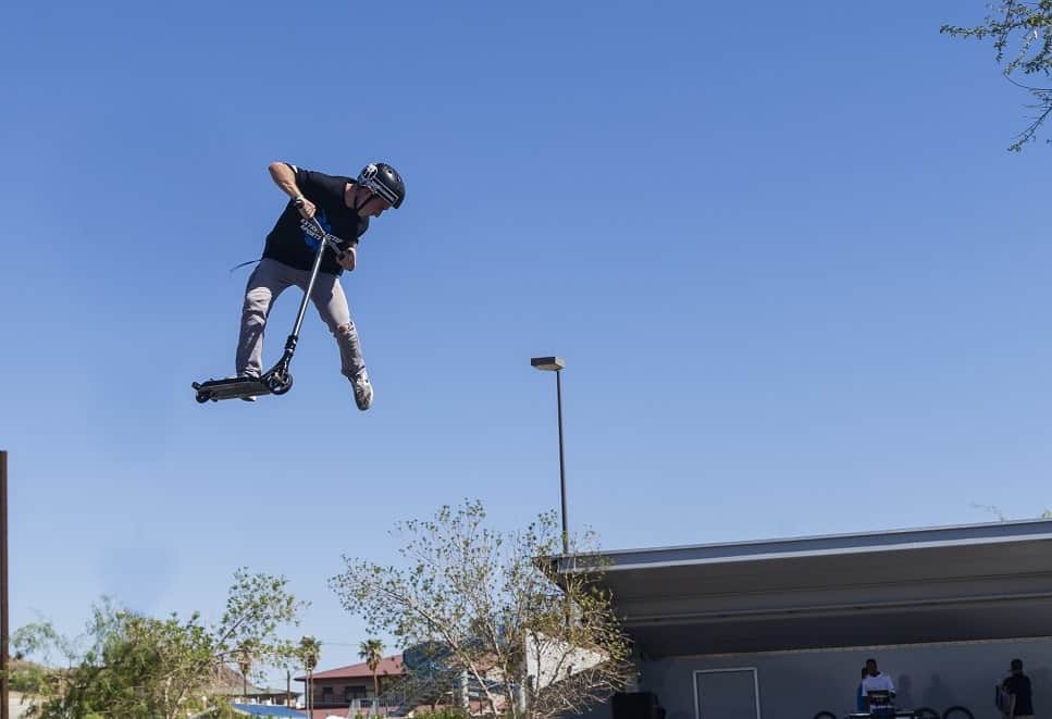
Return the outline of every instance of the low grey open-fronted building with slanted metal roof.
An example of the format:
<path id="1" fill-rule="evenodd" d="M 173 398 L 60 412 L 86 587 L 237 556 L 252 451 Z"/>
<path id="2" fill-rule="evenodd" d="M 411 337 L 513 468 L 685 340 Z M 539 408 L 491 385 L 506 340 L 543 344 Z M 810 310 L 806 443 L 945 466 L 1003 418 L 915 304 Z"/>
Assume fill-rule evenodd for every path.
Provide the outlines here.
<path id="1" fill-rule="evenodd" d="M 870 657 L 899 706 L 976 717 L 1022 658 L 1052 709 L 1052 520 L 605 556 L 640 689 L 668 719 L 842 717 Z"/>

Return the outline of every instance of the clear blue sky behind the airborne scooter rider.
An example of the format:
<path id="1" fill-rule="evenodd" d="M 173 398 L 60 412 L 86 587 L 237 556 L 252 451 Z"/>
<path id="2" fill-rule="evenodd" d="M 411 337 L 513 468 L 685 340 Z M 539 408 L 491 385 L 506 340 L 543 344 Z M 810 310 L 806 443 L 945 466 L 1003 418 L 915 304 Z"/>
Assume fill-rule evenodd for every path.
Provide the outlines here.
<path id="1" fill-rule="evenodd" d="M 558 506 L 611 548 L 1048 506 L 1049 150 L 986 3 L 7 3 L 0 448 L 12 625 L 115 595 L 311 600 L 398 518 Z M 408 185 L 311 309 L 283 398 L 199 406 L 284 197 L 272 160 Z M 274 314 L 267 360 L 298 297 Z"/>

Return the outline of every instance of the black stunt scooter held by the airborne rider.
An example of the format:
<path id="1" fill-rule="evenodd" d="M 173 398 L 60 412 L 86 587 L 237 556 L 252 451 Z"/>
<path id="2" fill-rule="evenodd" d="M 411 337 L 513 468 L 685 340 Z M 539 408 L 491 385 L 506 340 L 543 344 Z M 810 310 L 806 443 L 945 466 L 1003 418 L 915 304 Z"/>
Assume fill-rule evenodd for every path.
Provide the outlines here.
<path id="1" fill-rule="evenodd" d="M 304 315 L 307 313 L 307 302 L 310 300 L 310 293 L 314 288 L 314 281 L 318 278 L 318 270 L 321 266 L 322 255 L 325 248 L 332 249 L 337 258 L 343 258 L 344 251 L 339 248 L 339 238 L 330 235 L 321 226 L 315 218 L 311 218 L 313 225 L 304 224 L 304 228 L 310 233 L 311 237 L 320 240 L 318 251 L 314 253 L 314 263 L 310 269 L 310 280 L 304 290 L 304 299 L 299 303 L 299 313 L 296 315 L 296 324 L 293 332 L 285 340 L 285 351 L 271 369 L 258 377 L 228 377 L 226 380 L 209 380 L 208 382 L 194 382 L 190 386 L 197 391 L 197 401 L 202 405 L 209 400 L 219 401 L 220 399 L 249 399 L 261 395 L 284 395 L 293 388 L 293 374 L 288 371 L 288 365 L 293 361 L 296 351 L 296 343 L 299 342 L 299 328 L 304 324 Z"/>

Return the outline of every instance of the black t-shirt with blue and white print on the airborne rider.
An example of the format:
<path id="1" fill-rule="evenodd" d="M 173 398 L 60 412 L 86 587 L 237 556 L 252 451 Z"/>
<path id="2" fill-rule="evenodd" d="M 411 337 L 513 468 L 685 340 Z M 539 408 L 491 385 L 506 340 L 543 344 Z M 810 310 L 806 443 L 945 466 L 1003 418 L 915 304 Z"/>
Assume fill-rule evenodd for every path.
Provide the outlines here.
<path id="1" fill-rule="evenodd" d="M 344 203 L 344 188 L 352 182 L 350 177 L 326 175 L 321 172 L 288 165 L 296 173 L 296 186 L 308 200 L 314 203 L 314 218 L 331 235 L 338 237 L 344 248 L 354 247 L 369 228 L 369 218 L 358 213 Z M 277 218 L 274 228 L 267 235 L 263 257 L 277 260 L 298 270 L 310 270 L 314 263 L 319 239 L 304 230 L 305 221 L 299 210 L 289 200 L 285 211 Z M 317 230 L 317 228 L 315 228 Z M 322 256 L 320 272 L 339 275 L 343 268 L 336 263 L 333 251 Z"/>

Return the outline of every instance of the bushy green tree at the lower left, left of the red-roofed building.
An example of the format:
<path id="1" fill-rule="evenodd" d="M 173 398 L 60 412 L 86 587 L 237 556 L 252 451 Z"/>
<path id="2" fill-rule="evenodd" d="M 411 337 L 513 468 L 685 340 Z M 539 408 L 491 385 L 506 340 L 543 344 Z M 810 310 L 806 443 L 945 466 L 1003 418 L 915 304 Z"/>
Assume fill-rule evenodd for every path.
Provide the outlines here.
<path id="1" fill-rule="evenodd" d="M 20 655 L 44 657 L 23 677 L 35 696 L 29 716 L 44 719 L 96 717 L 164 718 L 227 711 L 221 668 L 251 647 L 257 659 L 280 662 L 293 652 L 276 637 L 298 622 L 304 607 L 287 591 L 285 578 L 238 570 L 226 609 L 215 625 L 199 613 L 156 619 L 103 599 L 88 623 L 87 648 L 62 637 L 49 623 L 23 627 L 12 644 Z M 53 653 L 64 659 L 55 668 Z"/>

